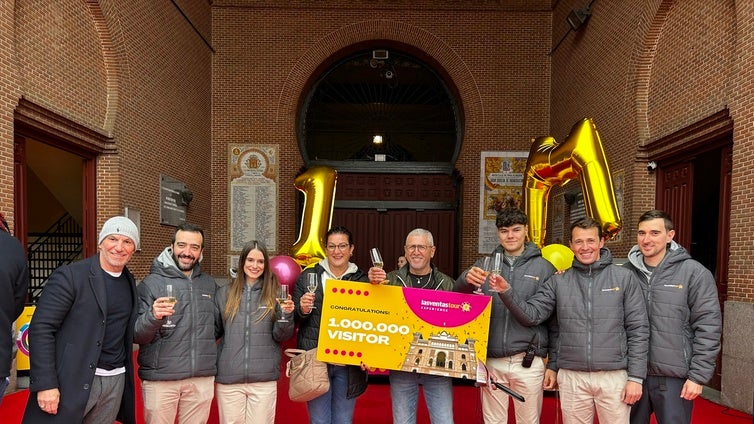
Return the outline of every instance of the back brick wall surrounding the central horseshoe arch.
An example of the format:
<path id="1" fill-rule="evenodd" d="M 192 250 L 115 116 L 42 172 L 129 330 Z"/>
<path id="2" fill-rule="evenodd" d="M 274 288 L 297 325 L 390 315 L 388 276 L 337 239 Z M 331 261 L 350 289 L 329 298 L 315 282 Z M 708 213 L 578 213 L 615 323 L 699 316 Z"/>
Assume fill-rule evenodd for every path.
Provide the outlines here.
<path id="1" fill-rule="evenodd" d="M 473 263 L 478 256 L 479 153 L 528 151 L 531 137 L 547 132 L 549 13 L 502 11 L 489 4 L 451 13 L 426 4 L 372 11 L 358 2 L 223 7 L 227 3 L 244 2 L 220 2 L 213 9 L 215 256 L 227 245 L 227 235 L 219 236 L 227 233 L 226 146 L 280 145 L 279 250 L 286 253 L 298 232 L 293 179 L 303 166 L 295 133 L 300 102 L 311 79 L 348 46 L 387 40 L 431 58 L 462 102 L 465 137 L 456 164 L 464 177 L 460 267 Z"/>

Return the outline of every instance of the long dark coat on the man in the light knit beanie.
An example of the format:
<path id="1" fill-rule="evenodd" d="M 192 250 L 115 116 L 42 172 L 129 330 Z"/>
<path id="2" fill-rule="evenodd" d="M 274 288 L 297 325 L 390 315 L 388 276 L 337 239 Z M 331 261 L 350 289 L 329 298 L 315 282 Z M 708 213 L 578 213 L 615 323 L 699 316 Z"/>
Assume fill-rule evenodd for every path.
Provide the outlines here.
<path id="1" fill-rule="evenodd" d="M 31 379 L 24 423 L 80 423 L 89 400 L 94 372 L 106 331 L 107 294 L 105 271 L 99 255 L 71 265 L 63 265 L 50 275 L 29 328 Z M 126 348 L 126 387 L 118 421 L 136 422 L 133 377 L 133 323 L 136 319 L 136 283 L 128 269 L 123 270 L 133 299 L 124 345 Z M 57 415 L 39 408 L 37 393 L 58 388 Z"/>

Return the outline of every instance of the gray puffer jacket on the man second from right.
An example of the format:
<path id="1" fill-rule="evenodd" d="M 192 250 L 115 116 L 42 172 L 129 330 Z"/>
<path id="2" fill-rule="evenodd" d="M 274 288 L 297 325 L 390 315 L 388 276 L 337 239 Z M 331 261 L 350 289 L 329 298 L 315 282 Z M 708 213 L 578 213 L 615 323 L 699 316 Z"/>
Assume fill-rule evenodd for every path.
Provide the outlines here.
<path id="1" fill-rule="evenodd" d="M 602 248 L 590 265 L 574 259 L 571 268 L 553 275 L 526 302 L 515 289 L 500 293 L 500 298 L 524 325 L 557 314 L 558 368 L 625 369 L 634 380 L 646 377 L 649 324 L 639 281 L 612 264 L 608 249 Z"/>

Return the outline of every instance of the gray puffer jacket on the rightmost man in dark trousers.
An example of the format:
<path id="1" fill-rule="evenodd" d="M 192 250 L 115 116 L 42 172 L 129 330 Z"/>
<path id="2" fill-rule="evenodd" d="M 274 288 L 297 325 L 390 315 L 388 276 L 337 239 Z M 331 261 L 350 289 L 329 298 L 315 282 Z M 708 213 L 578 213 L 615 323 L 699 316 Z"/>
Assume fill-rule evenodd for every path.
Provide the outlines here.
<path id="1" fill-rule="evenodd" d="M 639 276 L 652 325 L 647 374 L 707 383 L 715 372 L 722 333 L 712 273 L 674 241 L 652 273 L 638 246 L 628 259 L 624 267 Z"/>

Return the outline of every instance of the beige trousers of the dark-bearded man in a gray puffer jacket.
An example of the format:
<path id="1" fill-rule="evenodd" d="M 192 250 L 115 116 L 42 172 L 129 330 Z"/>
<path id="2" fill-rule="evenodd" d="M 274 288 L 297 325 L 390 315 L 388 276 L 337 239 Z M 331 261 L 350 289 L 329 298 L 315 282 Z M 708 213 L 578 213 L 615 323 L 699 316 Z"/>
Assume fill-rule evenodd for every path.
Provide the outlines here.
<path id="1" fill-rule="evenodd" d="M 215 392 L 215 377 L 175 381 L 141 381 L 147 424 L 205 424 Z"/>

